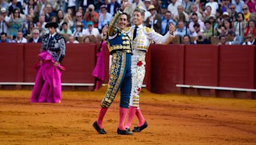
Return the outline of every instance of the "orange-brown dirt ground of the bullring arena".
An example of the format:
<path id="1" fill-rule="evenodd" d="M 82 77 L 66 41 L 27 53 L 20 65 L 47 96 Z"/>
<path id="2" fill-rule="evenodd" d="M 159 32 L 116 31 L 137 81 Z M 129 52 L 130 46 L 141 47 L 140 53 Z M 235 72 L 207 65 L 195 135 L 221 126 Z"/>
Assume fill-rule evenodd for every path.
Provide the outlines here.
<path id="1" fill-rule="evenodd" d="M 106 86 L 97 92 L 62 92 L 61 104 L 31 104 L 29 90 L 0 90 L 0 144 L 256 144 L 256 102 L 143 89 L 148 128 L 118 135 L 116 97 L 104 118 L 108 134 L 92 127 Z M 134 118 L 132 127 L 138 120 Z"/>

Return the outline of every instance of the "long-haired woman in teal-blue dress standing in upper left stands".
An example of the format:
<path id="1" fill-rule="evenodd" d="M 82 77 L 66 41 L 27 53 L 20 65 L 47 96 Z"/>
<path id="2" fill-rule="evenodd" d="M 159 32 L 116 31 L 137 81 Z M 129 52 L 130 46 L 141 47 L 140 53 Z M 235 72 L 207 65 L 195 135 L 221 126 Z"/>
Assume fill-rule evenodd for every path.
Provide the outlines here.
<path id="1" fill-rule="evenodd" d="M 11 15 L 10 21 L 10 35 L 15 36 L 17 31 L 21 30 L 22 28 L 22 18 L 20 18 L 20 11 L 19 8 L 15 8 Z"/>

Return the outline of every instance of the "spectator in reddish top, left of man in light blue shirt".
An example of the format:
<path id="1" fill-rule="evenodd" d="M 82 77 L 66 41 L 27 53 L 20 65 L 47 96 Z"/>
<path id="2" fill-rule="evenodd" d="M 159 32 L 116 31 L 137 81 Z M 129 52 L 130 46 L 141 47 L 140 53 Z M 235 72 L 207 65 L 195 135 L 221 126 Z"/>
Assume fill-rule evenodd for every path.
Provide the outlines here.
<path id="1" fill-rule="evenodd" d="M 84 14 L 84 20 L 93 22 L 93 26 L 96 28 L 99 24 L 99 13 L 95 12 L 94 9 L 95 7 L 93 4 L 88 6 L 88 10 L 86 10 L 86 13 Z"/>

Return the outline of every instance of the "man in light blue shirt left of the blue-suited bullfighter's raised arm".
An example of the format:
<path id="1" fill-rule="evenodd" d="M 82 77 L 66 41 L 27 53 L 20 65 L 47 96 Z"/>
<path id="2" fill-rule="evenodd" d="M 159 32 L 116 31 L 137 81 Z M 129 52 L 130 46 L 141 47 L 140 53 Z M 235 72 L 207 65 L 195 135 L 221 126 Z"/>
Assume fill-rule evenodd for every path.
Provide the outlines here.
<path id="1" fill-rule="evenodd" d="M 99 30 L 101 31 L 104 25 L 108 24 L 112 18 L 112 15 L 107 11 L 108 6 L 102 5 L 100 6 L 100 17 L 99 17 Z"/>

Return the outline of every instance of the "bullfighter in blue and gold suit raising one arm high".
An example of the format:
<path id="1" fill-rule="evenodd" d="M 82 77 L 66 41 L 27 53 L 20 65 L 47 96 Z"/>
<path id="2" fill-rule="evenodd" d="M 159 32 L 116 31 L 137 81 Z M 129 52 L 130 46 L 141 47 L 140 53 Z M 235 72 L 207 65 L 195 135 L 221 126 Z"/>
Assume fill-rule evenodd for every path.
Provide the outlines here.
<path id="1" fill-rule="evenodd" d="M 119 107 L 119 125 L 117 134 L 132 135 L 132 132 L 124 127 L 125 116 L 129 107 L 129 99 L 131 93 L 131 40 L 123 31 L 128 24 L 128 16 L 122 11 L 129 6 L 127 1 L 116 11 L 108 27 L 107 43 L 109 53 L 113 56 L 112 64 L 109 69 L 108 90 L 104 99 L 100 104 L 100 112 L 97 121 L 93 123 L 93 127 L 99 134 L 106 134 L 102 127 L 103 118 L 108 111 L 109 106 L 115 99 L 116 93 L 120 88 L 120 107 Z M 104 34 L 104 30 L 102 31 Z"/>

